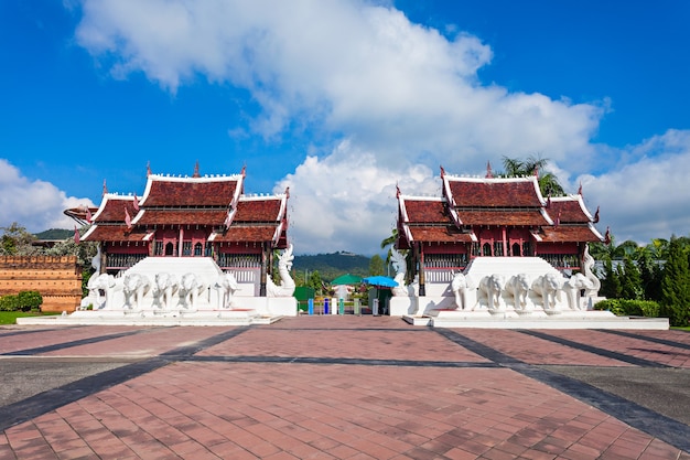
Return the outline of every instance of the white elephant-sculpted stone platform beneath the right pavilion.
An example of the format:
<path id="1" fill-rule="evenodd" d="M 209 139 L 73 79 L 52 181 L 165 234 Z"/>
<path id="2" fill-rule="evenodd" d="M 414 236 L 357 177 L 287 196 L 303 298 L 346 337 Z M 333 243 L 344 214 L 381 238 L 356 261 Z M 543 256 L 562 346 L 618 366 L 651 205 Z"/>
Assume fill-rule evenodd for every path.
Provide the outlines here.
<path id="1" fill-rule="evenodd" d="M 516 304 L 516 297 L 505 287 L 496 290 L 498 297 L 493 303 L 479 289 L 482 280 L 489 277 L 508 280 L 518 274 L 530 284 L 521 304 Z M 610 311 L 593 310 L 593 303 L 601 298 L 568 292 L 568 278 L 539 257 L 477 257 L 463 275 L 467 280 L 464 309 L 457 308 L 450 282 L 435 282 L 425 285 L 427 296 L 423 297 L 419 296 L 417 285 L 408 287 L 409 296 L 393 296 L 389 302 L 390 314 L 413 325 L 434 328 L 669 329 L 666 318 L 616 317 Z M 546 302 L 532 285 L 547 276 L 554 277 L 558 285 L 552 302 Z M 570 301 L 569 295 L 573 296 Z"/>

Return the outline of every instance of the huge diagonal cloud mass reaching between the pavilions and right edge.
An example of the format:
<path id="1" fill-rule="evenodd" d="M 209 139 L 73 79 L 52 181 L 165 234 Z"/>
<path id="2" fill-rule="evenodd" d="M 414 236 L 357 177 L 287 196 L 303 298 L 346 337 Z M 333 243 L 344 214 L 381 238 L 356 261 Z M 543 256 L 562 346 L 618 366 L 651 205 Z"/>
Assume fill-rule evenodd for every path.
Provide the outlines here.
<path id="1" fill-rule="evenodd" d="M 615 158 L 635 161 L 582 176 L 595 201 L 590 207 L 601 203 L 603 222 L 623 238 L 679 232 L 690 214 L 668 196 L 671 189 L 664 192 L 684 185 L 686 139 L 676 140 L 686 150 L 661 161 L 644 157 L 651 145 L 595 146 L 607 100 L 575 105 L 482 85 L 476 72 L 493 51 L 479 38 L 448 39 L 395 8 L 357 0 L 84 0 L 76 36 L 118 78 L 141 72 L 172 93 L 198 78 L 249 90 L 261 111 L 229 129 L 233 136 L 288 138 L 300 135 L 291 132 L 299 126 L 338 145 L 310 151 L 276 188 L 291 186 L 290 235 L 300 252 L 371 253 L 395 223 L 396 183 L 405 193 L 433 193 L 439 165 L 473 173 L 487 160 L 498 169 L 503 156 L 549 158 L 564 182 Z M 673 139 L 669 132 L 650 142 L 664 150 Z M 684 214 L 661 214 L 661 197 Z"/>

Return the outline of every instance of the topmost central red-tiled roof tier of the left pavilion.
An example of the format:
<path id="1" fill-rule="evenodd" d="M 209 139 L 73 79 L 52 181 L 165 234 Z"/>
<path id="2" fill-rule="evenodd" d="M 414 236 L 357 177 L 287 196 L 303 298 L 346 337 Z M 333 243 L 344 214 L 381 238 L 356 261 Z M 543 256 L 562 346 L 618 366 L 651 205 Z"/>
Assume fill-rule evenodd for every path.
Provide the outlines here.
<path id="1" fill-rule="evenodd" d="M 163 178 L 149 176 L 145 206 L 227 206 L 233 202 L 239 176 Z"/>

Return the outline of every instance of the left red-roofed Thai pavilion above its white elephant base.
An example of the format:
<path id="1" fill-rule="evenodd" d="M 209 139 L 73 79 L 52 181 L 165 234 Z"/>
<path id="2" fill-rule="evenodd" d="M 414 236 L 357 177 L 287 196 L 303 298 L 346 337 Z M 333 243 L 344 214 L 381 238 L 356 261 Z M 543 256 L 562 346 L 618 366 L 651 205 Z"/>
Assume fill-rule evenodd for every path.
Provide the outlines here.
<path id="1" fill-rule="evenodd" d="M 100 247 L 100 272 L 145 257 L 212 257 L 224 270 L 260 268 L 265 292 L 273 249 L 288 247 L 289 193 L 246 195 L 245 169 L 233 175 L 152 174 L 143 195 L 107 193 L 97 211 L 65 213 L 91 223 L 82 240 Z"/>

